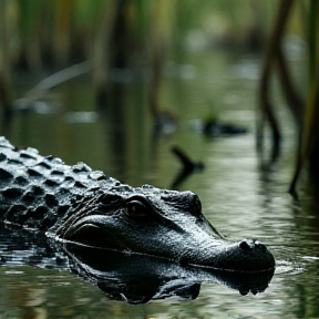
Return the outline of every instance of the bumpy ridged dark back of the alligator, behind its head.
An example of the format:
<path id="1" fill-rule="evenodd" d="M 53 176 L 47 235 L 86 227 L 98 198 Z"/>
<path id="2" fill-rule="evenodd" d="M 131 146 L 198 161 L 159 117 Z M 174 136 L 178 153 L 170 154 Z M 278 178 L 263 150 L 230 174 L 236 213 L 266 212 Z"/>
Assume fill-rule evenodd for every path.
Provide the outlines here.
<path id="1" fill-rule="evenodd" d="M 0 136 L 0 218 L 7 223 L 47 230 L 74 198 L 107 182 L 117 181 L 84 163 L 69 166 L 35 148 L 18 150 Z"/>

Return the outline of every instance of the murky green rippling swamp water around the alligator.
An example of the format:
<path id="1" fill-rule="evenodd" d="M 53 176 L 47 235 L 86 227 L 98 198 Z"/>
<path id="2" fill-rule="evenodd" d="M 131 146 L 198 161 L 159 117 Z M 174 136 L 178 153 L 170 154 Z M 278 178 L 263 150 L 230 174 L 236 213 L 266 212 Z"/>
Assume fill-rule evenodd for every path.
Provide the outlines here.
<path id="1" fill-rule="evenodd" d="M 256 156 L 258 72 L 258 60 L 229 60 L 222 53 L 192 56 L 189 64 L 169 63 L 161 105 L 177 115 L 178 125 L 168 125 L 167 134 L 152 133 L 143 81 L 125 76 L 122 103 L 103 116 L 95 113 L 90 85 L 76 81 L 54 91 L 52 110 L 38 103 L 37 112 L 18 115 L 0 134 L 68 164 L 83 161 L 133 186 L 165 188 L 181 169 L 169 151 L 177 145 L 205 164 L 179 189 L 199 195 L 205 215 L 223 234 L 258 238 L 275 254 L 276 272 L 264 292 L 240 296 L 223 285 L 203 284 L 196 300 L 133 307 L 109 300 L 65 271 L 0 267 L 0 318 L 319 318 L 318 207 L 305 189 L 298 203 L 287 194 L 296 141 L 276 90 L 285 123 L 281 157 L 267 167 Z M 220 120 L 244 125 L 248 133 L 219 138 L 199 134 L 196 121 L 213 109 Z"/>

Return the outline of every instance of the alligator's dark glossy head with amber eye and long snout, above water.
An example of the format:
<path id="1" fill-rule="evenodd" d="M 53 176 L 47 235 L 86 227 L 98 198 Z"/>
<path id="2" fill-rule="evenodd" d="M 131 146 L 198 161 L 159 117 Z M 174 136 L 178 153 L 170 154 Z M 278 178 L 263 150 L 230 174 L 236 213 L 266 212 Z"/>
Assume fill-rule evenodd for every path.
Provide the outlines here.
<path id="1" fill-rule="evenodd" d="M 259 241 L 223 238 L 192 192 L 119 183 L 84 194 L 74 212 L 60 222 L 51 229 L 54 236 L 90 247 L 212 269 L 264 271 L 275 267 L 272 254 Z"/>

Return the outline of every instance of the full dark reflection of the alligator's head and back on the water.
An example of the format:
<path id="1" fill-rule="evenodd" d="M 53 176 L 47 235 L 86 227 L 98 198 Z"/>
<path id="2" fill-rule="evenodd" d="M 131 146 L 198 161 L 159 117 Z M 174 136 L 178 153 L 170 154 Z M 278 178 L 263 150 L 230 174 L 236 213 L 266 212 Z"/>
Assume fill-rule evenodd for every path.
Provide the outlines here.
<path id="1" fill-rule="evenodd" d="M 63 244 L 8 226 L 0 227 L 0 265 L 69 271 L 99 287 L 107 298 L 131 305 L 167 298 L 196 299 L 202 282 L 226 285 L 241 295 L 257 294 L 268 287 L 274 275 L 274 269 L 231 272 L 183 267 L 140 254 Z"/>

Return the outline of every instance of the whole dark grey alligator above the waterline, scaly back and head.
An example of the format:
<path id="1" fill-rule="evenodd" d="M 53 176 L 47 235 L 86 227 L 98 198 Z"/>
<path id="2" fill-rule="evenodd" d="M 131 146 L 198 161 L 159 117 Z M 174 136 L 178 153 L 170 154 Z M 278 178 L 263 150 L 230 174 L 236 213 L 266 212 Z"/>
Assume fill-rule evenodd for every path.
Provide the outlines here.
<path id="1" fill-rule="evenodd" d="M 257 240 L 229 243 L 192 192 L 131 187 L 80 163 L 18 150 L 0 137 L 0 216 L 61 241 L 233 271 L 265 271 L 275 258 Z"/>

